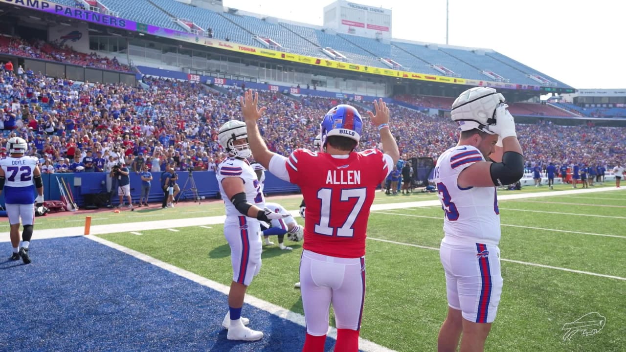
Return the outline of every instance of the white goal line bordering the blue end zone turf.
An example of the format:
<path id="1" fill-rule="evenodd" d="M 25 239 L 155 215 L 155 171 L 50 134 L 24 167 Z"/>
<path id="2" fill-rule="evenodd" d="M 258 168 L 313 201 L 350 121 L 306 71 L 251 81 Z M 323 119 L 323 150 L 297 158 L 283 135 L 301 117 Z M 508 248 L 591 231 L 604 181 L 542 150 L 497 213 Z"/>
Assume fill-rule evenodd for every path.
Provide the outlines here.
<path id="1" fill-rule="evenodd" d="M 222 292 L 223 294 L 228 295 L 228 291 L 230 289 L 229 286 L 220 284 L 219 282 L 216 282 L 216 281 L 209 280 L 206 277 L 193 274 L 193 272 L 186 271 L 184 269 L 181 269 L 180 267 L 173 266 L 172 264 L 167 264 L 166 262 L 162 262 L 153 257 L 146 256 L 143 253 L 133 251 L 132 249 L 128 249 L 126 247 L 120 246 L 119 244 L 106 241 L 105 239 L 102 239 L 100 237 L 96 237 L 96 236 L 86 236 L 86 237 L 88 239 L 91 239 L 92 241 L 96 241 L 100 244 L 111 247 L 120 252 L 124 252 L 130 256 L 140 259 L 141 261 L 148 262 L 152 264 L 153 266 L 160 267 L 169 272 L 177 274 L 178 276 L 185 277 L 186 279 L 189 279 L 193 282 L 201 284 L 202 286 L 209 287 L 211 289 L 214 289 L 215 291 Z M 279 318 L 289 320 L 292 323 L 298 324 L 302 327 L 305 326 L 304 316 L 302 314 L 294 313 L 292 311 L 289 311 L 288 309 L 282 308 L 280 306 L 269 303 L 267 301 L 263 301 L 262 299 L 255 298 L 254 296 L 250 296 L 249 294 L 245 295 L 245 303 L 250 304 L 250 306 L 254 306 L 256 308 L 262 309 L 270 314 L 274 314 L 275 316 L 279 316 Z M 224 306 L 224 311 L 226 311 L 226 306 Z M 327 336 L 336 339 L 337 329 L 329 326 Z M 359 349 L 362 351 L 366 351 L 366 352 L 394 352 L 393 349 L 380 346 L 379 344 L 373 343 L 372 341 L 366 340 L 364 338 L 359 338 Z"/>

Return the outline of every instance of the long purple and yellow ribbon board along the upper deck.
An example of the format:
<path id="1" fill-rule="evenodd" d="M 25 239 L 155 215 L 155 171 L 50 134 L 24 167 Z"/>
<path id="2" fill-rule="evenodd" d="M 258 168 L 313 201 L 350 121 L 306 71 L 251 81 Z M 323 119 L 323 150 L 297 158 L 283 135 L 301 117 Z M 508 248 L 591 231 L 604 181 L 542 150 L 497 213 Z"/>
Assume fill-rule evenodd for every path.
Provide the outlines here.
<path id="1" fill-rule="evenodd" d="M 51 3 L 49 1 L 40 0 L 0 0 L 0 3 L 14 4 L 22 8 L 43 11 L 45 13 L 63 16 L 66 18 L 78 19 L 85 22 L 102 24 L 114 28 L 125 29 L 126 31 L 134 31 L 160 36 L 162 38 L 176 39 L 187 41 L 188 43 L 200 44 L 210 48 L 224 49 L 235 51 L 238 53 L 253 54 L 263 56 L 265 58 L 274 58 L 277 60 L 292 61 L 295 63 L 304 63 L 308 65 L 323 66 L 334 68 L 337 70 L 354 71 L 358 73 L 366 73 L 371 75 L 381 75 L 396 78 L 406 78 L 408 80 L 431 81 L 438 83 L 450 83 L 456 85 L 483 85 L 493 86 L 506 89 L 518 90 L 540 90 L 540 86 L 527 86 L 515 84 L 503 84 L 491 81 L 468 81 L 463 78 L 453 78 L 447 76 L 425 75 L 423 73 L 415 73 L 400 70 L 391 70 L 387 68 L 372 67 L 360 65 L 357 63 L 346 63 L 344 61 L 326 60 L 324 58 L 314 58 L 312 56 L 304 56 L 299 54 L 285 53 L 284 51 L 276 51 L 272 49 L 256 48 L 254 46 L 246 46 L 233 43 L 232 41 L 220 41 L 214 38 L 206 38 L 197 36 L 193 33 L 175 31 L 173 29 L 160 28 L 151 24 L 139 23 L 129 19 L 118 18 L 84 9 L 71 8 L 61 4 Z"/>

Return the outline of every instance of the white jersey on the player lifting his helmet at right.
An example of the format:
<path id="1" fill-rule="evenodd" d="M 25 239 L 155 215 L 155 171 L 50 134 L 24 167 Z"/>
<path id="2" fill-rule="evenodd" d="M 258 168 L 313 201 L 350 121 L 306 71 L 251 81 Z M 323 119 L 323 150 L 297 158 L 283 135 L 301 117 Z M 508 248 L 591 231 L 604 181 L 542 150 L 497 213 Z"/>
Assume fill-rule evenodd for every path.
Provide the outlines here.
<path id="1" fill-rule="evenodd" d="M 461 188 L 457 183 L 461 171 L 482 161 L 483 154 L 471 145 L 450 148 L 437 160 L 434 180 L 445 212 L 443 242 L 493 246 L 500 242 L 496 187 Z"/>

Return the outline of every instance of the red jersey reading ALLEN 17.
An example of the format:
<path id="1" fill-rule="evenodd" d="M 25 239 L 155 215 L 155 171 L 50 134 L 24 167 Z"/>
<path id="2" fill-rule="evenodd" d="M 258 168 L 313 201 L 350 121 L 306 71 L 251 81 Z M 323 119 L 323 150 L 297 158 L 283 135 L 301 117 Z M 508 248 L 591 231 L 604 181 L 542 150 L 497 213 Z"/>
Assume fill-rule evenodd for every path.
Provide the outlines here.
<path id="1" fill-rule="evenodd" d="M 376 149 L 347 158 L 306 149 L 291 153 L 285 167 L 306 204 L 302 247 L 332 257 L 364 256 L 369 208 L 389 162 L 391 157 Z"/>

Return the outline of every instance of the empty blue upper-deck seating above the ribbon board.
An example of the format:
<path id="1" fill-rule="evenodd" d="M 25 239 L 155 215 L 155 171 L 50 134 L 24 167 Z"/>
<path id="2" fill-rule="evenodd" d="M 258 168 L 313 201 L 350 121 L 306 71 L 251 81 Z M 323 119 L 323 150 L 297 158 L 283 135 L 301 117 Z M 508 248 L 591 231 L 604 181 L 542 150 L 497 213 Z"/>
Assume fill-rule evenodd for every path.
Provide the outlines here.
<path id="1" fill-rule="evenodd" d="M 73 0 L 66 0 L 68 6 Z M 140 3 L 141 6 L 138 4 Z M 358 36 L 329 34 L 324 30 L 299 24 L 284 23 L 280 19 L 261 19 L 233 13 L 217 13 L 172 0 L 140 0 L 132 4 L 125 0 L 103 0 L 111 11 L 122 18 L 140 23 L 150 23 L 178 31 L 188 31 L 178 24 L 193 23 L 200 29 L 212 29 L 213 38 L 233 41 L 257 47 L 270 47 L 278 44 L 278 49 L 297 54 L 329 59 L 323 48 L 332 48 L 346 56 L 346 61 L 356 65 L 389 68 L 377 58 L 390 58 L 402 66 L 402 70 L 430 74 L 447 75 L 473 80 L 493 81 L 481 71 L 501 76 L 511 83 L 540 85 L 531 75 L 545 78 L 545 85 L 558 85 L 571 88 L 550 76 L 518 63 L 507 56 L 491 50 L 472 51 L 469 48 L 451 48 L 434 44 L 406 43 L 391 41 L 381 43 L 376 39 Z M 145 4 L 145 6 L 143 6 Z M 146 18 L 147 14 L 147 18 Z M 275 23 L 274 23 L 275 22 Z M 259 39 L 255 39 L 258 37 Z M 274 41 L 275 43 L 272 43 Z M 269 44 L 264 44 L 269 43 Z M 274 46 L 275 47 L 275 46 Z M 481 54 L 477 54 L 481 52 Z M 482 52 L 485 52 L 482 54 Z M 339 56 L 341 58 L 341 56 Z M 442 66 L 439 70 L 434 66 Z"/>

